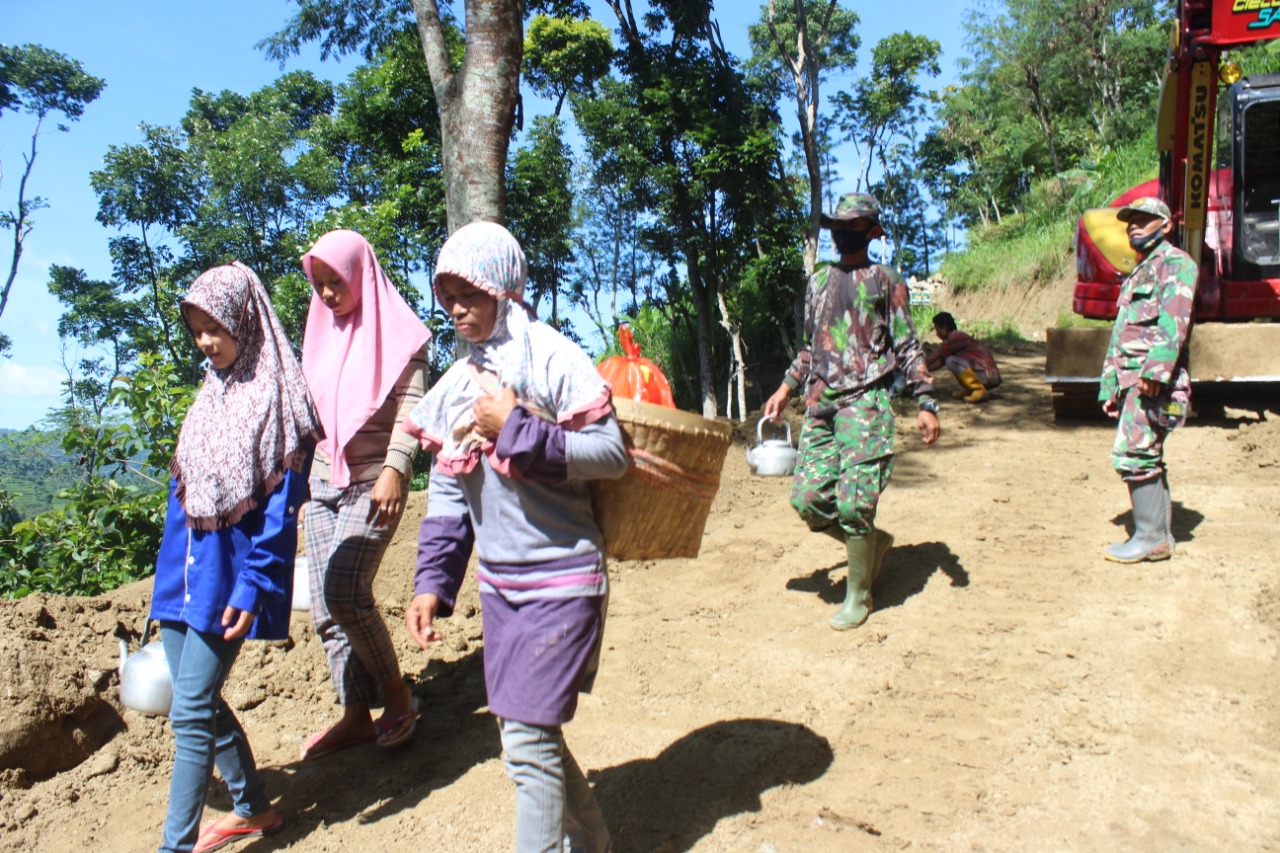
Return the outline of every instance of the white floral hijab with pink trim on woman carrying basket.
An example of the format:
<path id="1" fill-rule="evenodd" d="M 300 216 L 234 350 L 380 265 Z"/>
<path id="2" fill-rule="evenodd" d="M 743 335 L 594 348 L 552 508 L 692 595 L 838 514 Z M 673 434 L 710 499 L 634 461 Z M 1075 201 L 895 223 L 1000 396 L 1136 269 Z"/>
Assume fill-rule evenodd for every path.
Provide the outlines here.
<path id="1" fill-rule="evenodd" d="M 470 471 L 488 456 L 494 470 L 509 475 L 494 443 L 475 430 L 472 411 L 477 400 L 503 388 L 515 389 L 521 407 L 570 429 L 613 411 L 609 386 L 586 352 L 524 304 L 526 273 L 524 250 L 497 223 L 463 225 L 440 248 L 436 295 L 440 278 L 454 275 L 498 300 L 489 337 L 471 345 L 471 355 L 449 368 L 403 424 L 447 473 Z"/>

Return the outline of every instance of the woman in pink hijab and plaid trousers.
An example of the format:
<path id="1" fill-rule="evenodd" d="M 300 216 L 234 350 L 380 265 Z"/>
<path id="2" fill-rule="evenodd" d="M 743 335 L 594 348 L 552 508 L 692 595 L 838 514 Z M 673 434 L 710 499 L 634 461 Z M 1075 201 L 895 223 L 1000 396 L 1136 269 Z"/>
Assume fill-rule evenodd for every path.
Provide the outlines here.
<path id="1" fill-rule="evenodd" d="M 372 588 L 404 510 L 417 442 L 399 424 L 426 389 L 431 333 L 353 231 L 323 236 L 302 269 L 315 288 L 302 371 L 325 430 L 305 524 L 311 619 L 343 708 L 302 745 L 311 760 L 370 740 L 394 747 L 417 726 L 417 698 Z M 375 724 L 376 706 L 383 715 Z"/>

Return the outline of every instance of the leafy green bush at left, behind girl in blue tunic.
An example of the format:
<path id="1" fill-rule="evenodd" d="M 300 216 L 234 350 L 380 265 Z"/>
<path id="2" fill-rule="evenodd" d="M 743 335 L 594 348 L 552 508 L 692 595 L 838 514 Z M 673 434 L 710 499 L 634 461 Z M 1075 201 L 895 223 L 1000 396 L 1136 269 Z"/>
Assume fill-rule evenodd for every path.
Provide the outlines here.
<path id="1" fill-rule="evenodd" d="M 59 494 L 61 510 L 0 524 L 0 594 L 96 596 L 154 570 L 169 460 L 195 388 L 156 356 L 138 365 L 111 389 L 120 418 L 78 421 L 67 412 L 63 450 L 81 480 Z"/>

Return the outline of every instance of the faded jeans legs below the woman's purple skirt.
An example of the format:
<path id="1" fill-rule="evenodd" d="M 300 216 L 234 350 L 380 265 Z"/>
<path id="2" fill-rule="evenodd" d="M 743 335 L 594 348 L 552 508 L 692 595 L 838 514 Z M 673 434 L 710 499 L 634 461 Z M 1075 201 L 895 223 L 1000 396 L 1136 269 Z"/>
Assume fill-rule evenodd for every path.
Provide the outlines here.
<path id="1" fill-rule="evenodd" d="M 559 726 L 499 720 L 502 760 L 516 783 L 516 853 L 607 853 L 595 793 Z"/>

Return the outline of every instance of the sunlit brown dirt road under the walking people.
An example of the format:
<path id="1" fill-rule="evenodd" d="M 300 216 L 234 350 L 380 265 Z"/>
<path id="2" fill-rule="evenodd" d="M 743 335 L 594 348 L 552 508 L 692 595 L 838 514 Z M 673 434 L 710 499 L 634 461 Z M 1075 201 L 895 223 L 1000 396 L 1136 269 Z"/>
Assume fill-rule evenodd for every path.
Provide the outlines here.
<path id="1" fill-rule="evenodd" d="M 611 567 L 603 670 L 567 736 L 618 853 L 1280 849 L 1275 412 L 1175 434 L 1178 555 L 1117 566 L 1101 558 L 1129 520 L 1110 428 L 1052 423 L 1038 346 L 1000 355 L 1005 387 L 947 405 L 936 447 L 900 423 L 881 508 L 897 547 L 864 628 L 827 628 L 842 549 L 741 446 L 699 560 Z M 415 526 L 379 594 L 430 708 L 416 740 L 298 763 L 334 715 L 320 647 L 305 616 L 289 643 L 247 647 L 228 695 L 288 826 L 238 849 L 511 849 L 474 588 L 431 654 L 399 624 Z M 18 661 L 0 729 L 114 702 L 111 633 L 142 626 L 147 593 L 0 607 Z M 155 849 L 168 730 L 123 722 L 51 779 L 5 771 L 0 849 Z"/>

